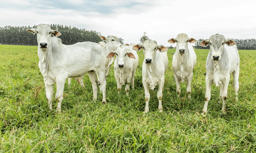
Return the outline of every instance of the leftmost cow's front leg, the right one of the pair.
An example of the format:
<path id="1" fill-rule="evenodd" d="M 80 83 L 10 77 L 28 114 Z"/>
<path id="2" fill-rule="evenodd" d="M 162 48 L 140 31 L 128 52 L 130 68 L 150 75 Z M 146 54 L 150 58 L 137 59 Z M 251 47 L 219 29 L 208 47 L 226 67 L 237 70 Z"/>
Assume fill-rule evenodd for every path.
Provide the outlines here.
<path id="1" fill-rule="evenodd" d="M 65 85 L 65 80 L 67 78 L 56 78 L 56 86 L 57 86 L 57 92 L 55 95 L 55 98 L 58 98 L 58 105 L 57 105 L 57 110 L 56 112 L 61 111 L 61 101 L 63 99 L 63 91 L 64 91 L 64 85 Z"/>

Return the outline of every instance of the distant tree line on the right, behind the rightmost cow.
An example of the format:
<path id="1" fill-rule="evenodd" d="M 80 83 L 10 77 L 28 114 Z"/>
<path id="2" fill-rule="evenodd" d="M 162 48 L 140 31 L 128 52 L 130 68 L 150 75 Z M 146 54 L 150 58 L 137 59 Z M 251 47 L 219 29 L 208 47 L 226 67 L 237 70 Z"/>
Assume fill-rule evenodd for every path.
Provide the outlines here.
<path id="1" fill-rule="evenodd" d="M 232 39 L 232 38 L 231 38 Z M 199 46 L 200 42 L 205 39 L 198 39 L 195 43 L 196 49 L 210 49 L 210 46 Z M 232 39 L 237 43 L 237 49 L 239 50 L 256 50 L 256 39 Z"/>

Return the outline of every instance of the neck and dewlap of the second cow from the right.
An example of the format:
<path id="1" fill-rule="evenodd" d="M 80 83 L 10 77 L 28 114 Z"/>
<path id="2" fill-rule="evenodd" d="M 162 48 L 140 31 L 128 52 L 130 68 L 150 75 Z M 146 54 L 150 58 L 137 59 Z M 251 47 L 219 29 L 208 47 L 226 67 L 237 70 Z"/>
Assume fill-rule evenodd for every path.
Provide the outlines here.
<path id="1" fill-rule="evenodd" d="M 184 72 L 185 72 L 185 68 L 186 68 L 186 65 L 187 65 L 188 57 L 189 57 L 189 49 L 188 49 L 188 47 L 185 50 L 186 50 L 186 52 L 184 54 L 180 54 L 178 49 L 176 49 L 176 52 L 175 52 L 177 61 L 181 62 L 181 63 L 178 63 L 177 65 L 178 65 L 178 67 L 179 67 L 179 69 L 181 71 L 181 82 L 182 83 L 185 80 Z"/>

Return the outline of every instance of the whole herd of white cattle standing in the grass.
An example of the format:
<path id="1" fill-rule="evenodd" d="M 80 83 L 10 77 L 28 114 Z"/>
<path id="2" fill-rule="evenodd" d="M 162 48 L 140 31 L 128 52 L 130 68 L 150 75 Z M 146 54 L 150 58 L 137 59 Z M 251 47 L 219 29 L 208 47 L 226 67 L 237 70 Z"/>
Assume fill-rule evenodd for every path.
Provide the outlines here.
<path id="1" fill-rule="evenodd" d="M 149 89 L 154 90 L 156 85 L 158 85 L 158 109 L 162 112 L 162 90 L 165 83 L 165 72 L 168 68 L 168 49 L 165 46 L 157 45 L 154 40 L 145 40 L 143 44 L 124 46 L 115 36 L 109 36 L 108 38 L 100 36 L 107 43 L 101 41 L 98 44 L 83 42 L 74 45 L 63 45 L 61 39 L 57 38 L 61 35 L 60 32 L 52 30 L 48 24 L 39 24 L 37 28 L 28 29 L 27 32 L 37 33 L 39 69 L 44 78 L 49 109 L 52 109 L 54 83 L 57 87 L 55 96 L 55 98 L 58 98 L 57 111 L 61 111 L 65 81 L 68 78 L 70 85 L 71 78 L 73 78 L 81 86 L 84 86 L 83 77 L 86 73 L 88 73 L 93 86 L 94 100 L 97 99 L 98 86 L 100 86 L 103 96 L 102 103 L 106 103 L 106 80 L 114 62 L 114 56 L 116 56 L 114 71 L 118 95 L 120 95 L 122 85 L 125 85 L 125 91 L 128 95 L 130 83 L 132 89 L 134 89 L 134 75 L 139 63 L 136 51 L 143 49 L 142 83 L 146 101 L 144 112 L 149 111 Z M 197 40 L 189 38 L 186 34 L 179 34 L 176 38 L 169 39 L 168 42 L 176 43 L 172 68 L 177 94 L 180 95 L 180 85 L 185 81 L 188 98 L 190 98 L 196 53 L 189 43 L 195 43 Z M 205 65 L 206 93 L 202 114 L 207 113 L 213 83 L 216 86 L 220 85 L 219 100 L 223 100 L 222 111 L 226 114 L 230 74 L 233 74 L 234 88 L 236 95 L 238 94 L 240 61 L 238 50 L 233 40 L 225 39 L 223 35 L 219 34 L 212 35 L 209 40 L 200 42 L 200 46 L 206 47 L 208 45 L 210 45 L 210 52 Z"/>

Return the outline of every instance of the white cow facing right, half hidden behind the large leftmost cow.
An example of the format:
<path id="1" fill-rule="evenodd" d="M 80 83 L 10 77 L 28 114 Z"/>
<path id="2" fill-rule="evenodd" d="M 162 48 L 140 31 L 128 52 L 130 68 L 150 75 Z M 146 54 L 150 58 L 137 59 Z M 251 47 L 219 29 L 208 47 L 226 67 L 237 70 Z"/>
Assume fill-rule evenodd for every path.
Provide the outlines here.
<path id="1" fill-rule="evenodd" d="M 107 58 L 110 52 L 113 52 L 117 49 L 117 47 L 122 46 L 119 39 L 116 36 L 109 36 L 108 38 L 104 36 L 100 36 L 100 38 L 104 41 L 107 41 L 106 45 L 102 47 L 104 55 L 105 55 L 105 80 L 109 74 L 109 69 L 114 62 L 114 57 Z"/>

